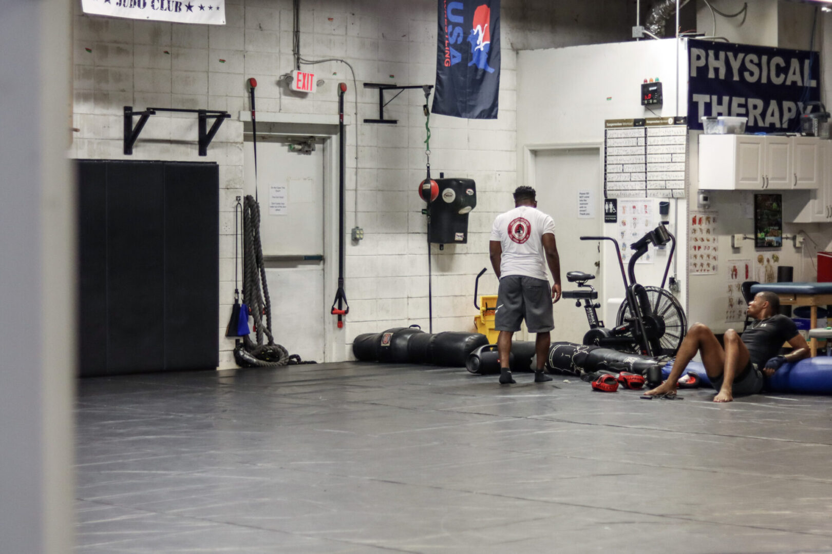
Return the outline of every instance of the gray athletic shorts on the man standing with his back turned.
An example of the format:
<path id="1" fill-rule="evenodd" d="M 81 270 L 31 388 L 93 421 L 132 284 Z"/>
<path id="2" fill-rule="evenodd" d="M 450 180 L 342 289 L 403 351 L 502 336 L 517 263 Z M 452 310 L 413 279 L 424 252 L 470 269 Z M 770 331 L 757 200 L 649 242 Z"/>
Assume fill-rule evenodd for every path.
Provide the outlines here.
<path id="1" fill-rule="evenodd" d="M 503 277 L 498 289 L 494 329 L 520 331 L 523 319 L 530 333 L 545 333 L 555 328 L 549 282 L 522 275 Z"/>

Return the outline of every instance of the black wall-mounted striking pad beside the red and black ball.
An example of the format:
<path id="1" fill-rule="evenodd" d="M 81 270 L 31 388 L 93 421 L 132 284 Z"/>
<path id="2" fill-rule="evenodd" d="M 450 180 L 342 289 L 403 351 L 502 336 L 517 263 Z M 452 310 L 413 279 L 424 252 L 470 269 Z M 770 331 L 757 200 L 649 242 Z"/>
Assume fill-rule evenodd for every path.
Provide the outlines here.
<path id="1" fill-rule="evenodd" d="M 468 212 L 477 206 L 473 179 L 436 179 L 438 199 L 430 205 L 430 242 L 468 243 Z"/>

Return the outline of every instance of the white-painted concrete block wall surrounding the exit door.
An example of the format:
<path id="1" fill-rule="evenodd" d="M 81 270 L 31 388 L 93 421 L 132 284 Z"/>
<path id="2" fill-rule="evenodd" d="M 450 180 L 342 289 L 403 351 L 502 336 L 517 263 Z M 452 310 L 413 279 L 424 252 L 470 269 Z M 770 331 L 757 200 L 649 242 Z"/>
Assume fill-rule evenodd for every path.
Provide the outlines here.
<path id="1" fill-rule="evenodd" d="M 503 0 L 502 72 L 498 120 L 463 120 L 433 115 L 433 176 L 474 179 L 478 206 L 469 218 L 466 245 L 433 246 L 433 331 L 473 330 L 474 277 L 489 267 L 480 290 L 496 292 L 488 261 L 494 216 L 513 206 L 517 183 L 516 51 L 587 42 L 616 42 L 629 36 L 631 2 L 573 2 L 564 11 L 547 0 Z M 587 6 L 592 3 L 592 6 Z M 302 0 L 300 51 L 326 62 L 314 72 L 324 79 L 314 95 L 299 95 L 281 79 L 294 68 L 292 2 L 227 0 L 225 26 L 185 25 L 87 16 L 75 0 L 73 22 L 73 123 L 78 131 L 72 157 L 121 159 L 122 110 L 145 107 L 208 108 L 232 115 L 208 149 L 197 155 L 196 115 L 154 115 L 142 131 L 132 159 L 216 161 L 220 164 L 220 321 L 233 292 L 233 206 L 243 190 L 243 123 L 248 109 L 245 81 L 258 81 L 258 112 L 335 114 L 339 81 L 349 85 L 345 111 L 378 117 L 378 92 L 364 82 L 433 84 L 435 0 Z M 586 6 L 584 8 L 580 6 Z M 428 326 L 428 247 L 423 203 L 416 186 L 424 178 L 425 138 L 421 91 L 405 91 L 385 108 L 399 125 L 365 125 L 347 130 L 347 228 L 358 224 L 365 239 L 347 241 L 346 318 L 343 356 L 354 336 L 389 326 Z M 358 154 L 356 167 L 355 156 Z M 302 292 L 297 292 L 302 294 Z M 328 292 L 329 295 L 329 292 Z M 234 366 L 220 332 L 220 367 Z M 287 345 L 291 348 L 290 345 Z"/>

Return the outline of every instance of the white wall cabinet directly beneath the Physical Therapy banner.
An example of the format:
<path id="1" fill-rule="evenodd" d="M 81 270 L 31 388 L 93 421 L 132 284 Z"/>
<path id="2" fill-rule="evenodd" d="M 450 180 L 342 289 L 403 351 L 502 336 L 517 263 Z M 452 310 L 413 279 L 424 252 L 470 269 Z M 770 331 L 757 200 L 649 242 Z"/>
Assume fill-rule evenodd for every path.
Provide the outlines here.
<path id="1" fill-rule="evenodd" d="M 699 188 L 815 190 L 822 141 L 814 137 L 699 135 Z"/>

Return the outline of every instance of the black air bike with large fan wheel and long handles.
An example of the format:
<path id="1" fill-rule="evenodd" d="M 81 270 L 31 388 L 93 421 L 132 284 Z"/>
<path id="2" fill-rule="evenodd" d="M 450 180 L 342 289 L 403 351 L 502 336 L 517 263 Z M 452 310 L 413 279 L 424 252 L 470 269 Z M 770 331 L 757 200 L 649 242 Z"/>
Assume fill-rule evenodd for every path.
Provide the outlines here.
<path id="1" fill-rule="evenodd" d="M 632 243 L 631 249 L 635 252 L 627 264 L 626 274 L 621 249 L 618 248 L 616 239 L 581 237 L 581 240 L 608 240 L 616 245 L 618 265 L 621 267 L 626 291 L 624 302 L 618 308 L 616 326 L 608 329 L 603 321 L 598 320 L 596 310 L 601 307 L 601 304 L 595 302 L 598 292 L 592 285 L 587 284 L 595 276 L 584 272 L 567 272 L 567 281 L 577 282 L 578 287 L 589 289 L 565 291 L 562 294 L 564 298 L 574 299 L 578 307 L 583 301 L 583 308 L 587 312 L 587 321 L 589 321 L 589 331 L 583 336 L 583 344 L 656 357 L 676 355 L 687 331 L 685 310 L 676 297 L 665 289 L 667 272 L 670 270 L 673 252 L 676 250 L 676 237 L 667 230 L 664 224 L 660 224 L 638 239 L 636 243 Z M 651 244 L 662 247 L 668 242 L 672 243 L 671 251 L 667 257 L 661 287 L 644 287 L 636 282 L 635 268 L 638 258 L 647 252 Z"/>

